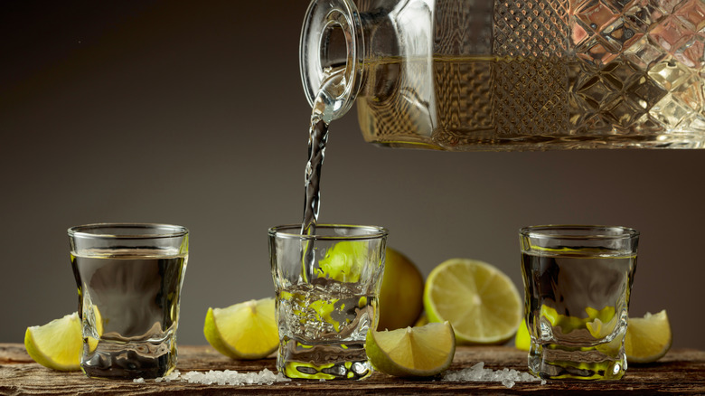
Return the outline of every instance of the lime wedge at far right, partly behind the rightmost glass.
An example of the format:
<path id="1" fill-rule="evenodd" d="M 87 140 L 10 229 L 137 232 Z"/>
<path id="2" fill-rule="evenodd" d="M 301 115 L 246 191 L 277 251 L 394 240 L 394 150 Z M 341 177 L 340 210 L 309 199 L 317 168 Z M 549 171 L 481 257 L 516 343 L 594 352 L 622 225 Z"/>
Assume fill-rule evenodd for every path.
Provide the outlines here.
<path id="1" fill-rule="evenodd" d="M 626 325 L 625 352 L 629 363 L 651 363 L 671 349 L 671 324 L 666 310 L 644 317 L 630 317 Z"/>

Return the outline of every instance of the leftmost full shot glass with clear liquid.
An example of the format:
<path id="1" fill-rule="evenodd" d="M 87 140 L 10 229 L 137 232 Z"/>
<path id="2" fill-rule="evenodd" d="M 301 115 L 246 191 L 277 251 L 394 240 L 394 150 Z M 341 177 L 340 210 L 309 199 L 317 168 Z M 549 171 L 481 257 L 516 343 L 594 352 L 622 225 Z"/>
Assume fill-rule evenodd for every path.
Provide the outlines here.
<path id="1" fill-rule="evenodd" d="M 188 235 L 165 224 L 69 229 L 86 375 L 155 378 L 174 370 Z"/>

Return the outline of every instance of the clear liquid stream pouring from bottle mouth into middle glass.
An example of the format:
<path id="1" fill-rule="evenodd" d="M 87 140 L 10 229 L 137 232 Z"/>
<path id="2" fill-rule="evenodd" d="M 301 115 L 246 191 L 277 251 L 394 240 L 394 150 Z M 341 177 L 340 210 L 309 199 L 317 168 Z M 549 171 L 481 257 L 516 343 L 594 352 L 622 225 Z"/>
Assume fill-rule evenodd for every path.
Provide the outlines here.
<path id="1" fill-rule="evenodd" d="M 344 87 L 344 69 L 327 72 L 321 89 L 315 98 L 311 112 L 311 125 L 308 135 L 308 162 L 305 167 L 305 200 L 304 221 L 301 224 L 301 235 L 314 235 L 315 224 L 318 222 L 318 212 L 321 206 L 321 169 L 325 156 L 325 144 L 328 141 L 328 126 L 333 120 L 334 108 L 339 90 Z M 302 240 L 301 264 L 302 277 L 305 281 L 312 278 L 314 269 L 314 242 Z"/>

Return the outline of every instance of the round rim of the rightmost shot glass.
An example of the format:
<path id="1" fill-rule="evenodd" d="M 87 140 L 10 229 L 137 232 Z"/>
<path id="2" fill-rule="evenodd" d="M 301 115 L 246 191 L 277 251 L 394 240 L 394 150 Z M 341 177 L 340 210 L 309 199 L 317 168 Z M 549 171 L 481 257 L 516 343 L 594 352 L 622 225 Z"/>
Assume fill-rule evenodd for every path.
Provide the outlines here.
<path id="1" fill-rule="evenodd" d="M 522 227 L 519 234 L 522 237 L 539 239 L 619 240 L 638 237 L 640 232 L 621 225 L 546 224 Z"/>

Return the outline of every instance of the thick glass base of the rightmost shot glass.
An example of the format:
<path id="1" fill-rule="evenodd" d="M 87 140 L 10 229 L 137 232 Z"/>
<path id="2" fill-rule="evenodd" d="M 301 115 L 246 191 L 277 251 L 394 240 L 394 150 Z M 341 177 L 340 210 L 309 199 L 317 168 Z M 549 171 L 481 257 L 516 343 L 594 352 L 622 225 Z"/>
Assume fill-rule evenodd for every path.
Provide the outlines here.
<path id="1" fill-rule="evenodd" d="M 544 380 L 619 380 L 626 372 L 624 347 L 610 351 L 603 346 L 531 344 L 529 372 Z"/>

